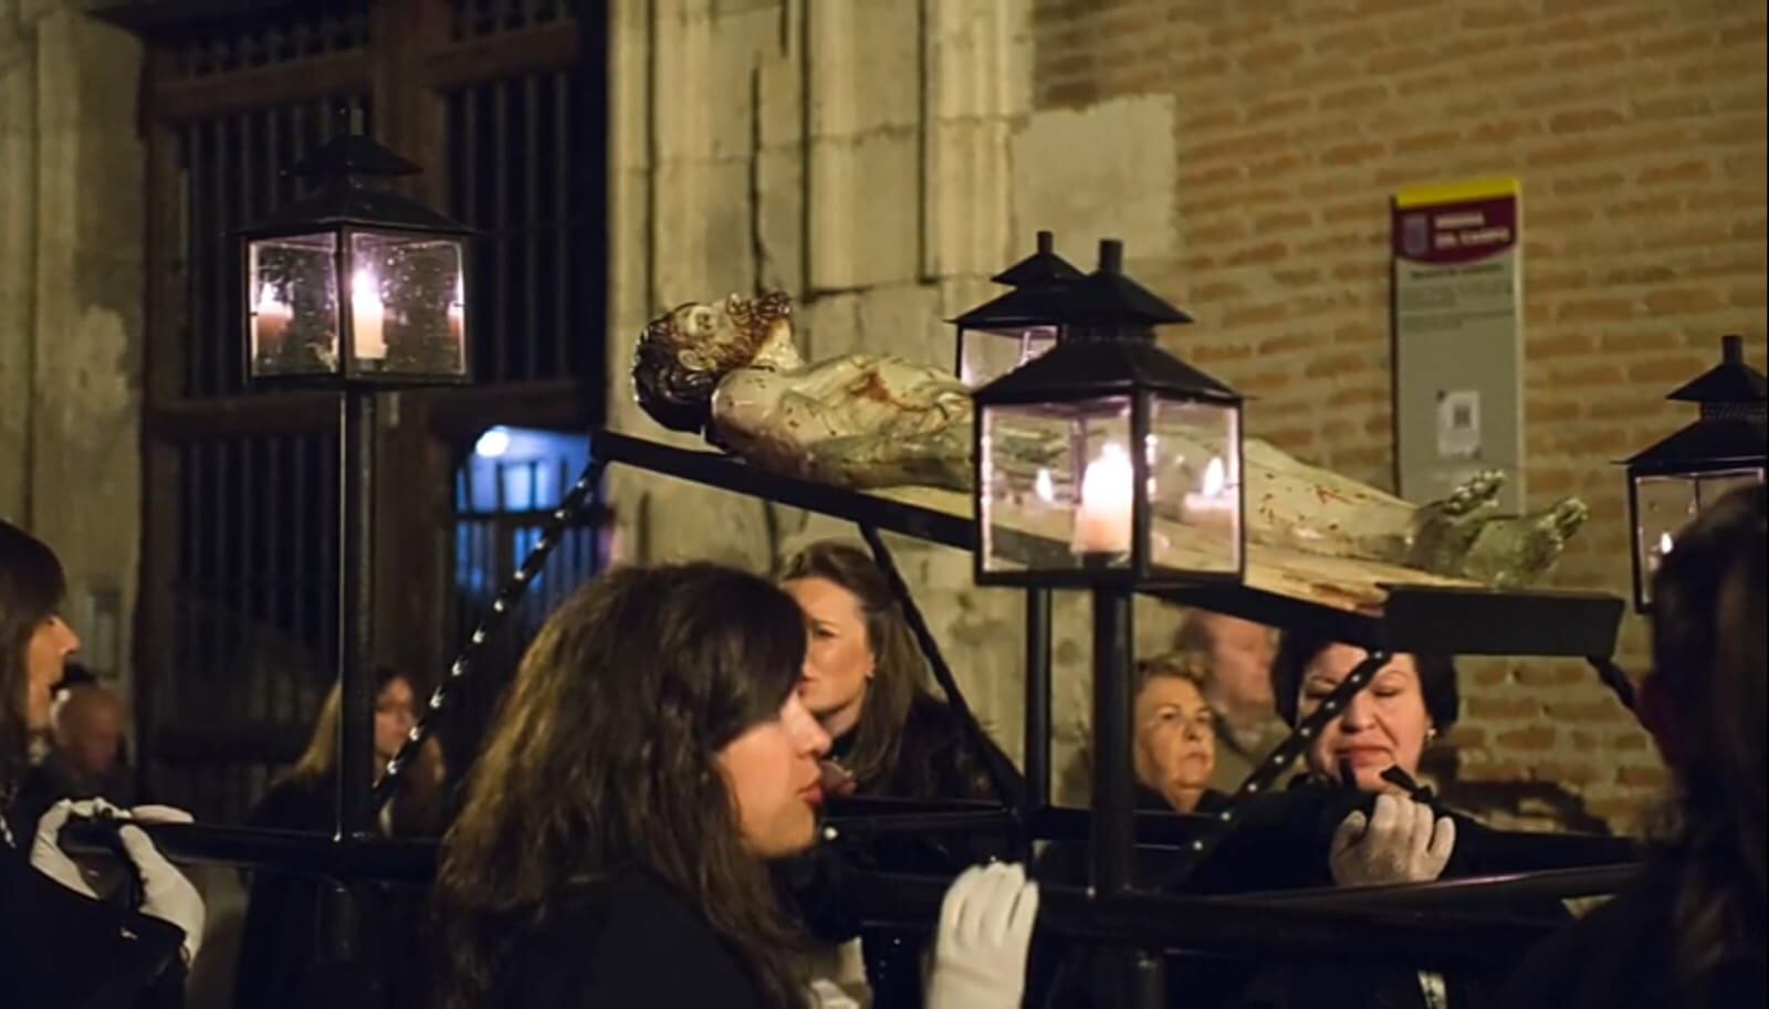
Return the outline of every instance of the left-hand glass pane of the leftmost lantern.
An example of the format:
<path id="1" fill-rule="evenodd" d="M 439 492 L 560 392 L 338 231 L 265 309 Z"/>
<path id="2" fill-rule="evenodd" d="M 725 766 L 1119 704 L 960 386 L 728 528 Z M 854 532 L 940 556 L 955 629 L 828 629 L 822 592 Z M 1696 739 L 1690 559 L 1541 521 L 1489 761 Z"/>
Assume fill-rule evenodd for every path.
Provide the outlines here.
<path id="1" fill-rule="evenodd" d="M 246 341 L 251 378 L 338 371 L 338 235 L 246 244 Z"/>

